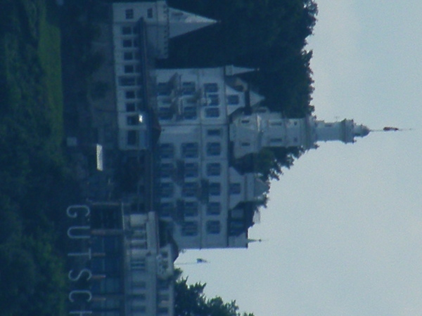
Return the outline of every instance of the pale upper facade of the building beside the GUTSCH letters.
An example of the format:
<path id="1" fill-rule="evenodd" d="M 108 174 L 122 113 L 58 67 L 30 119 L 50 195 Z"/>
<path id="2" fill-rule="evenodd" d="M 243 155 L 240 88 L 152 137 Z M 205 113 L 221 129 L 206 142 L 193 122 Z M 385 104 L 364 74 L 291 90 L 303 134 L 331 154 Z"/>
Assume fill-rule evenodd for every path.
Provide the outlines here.
<path id="1" fill-rule="evenodd" d="M 157 228 L 153 212 L 125 220 L 125 315 L 174 315 L 174 254 Z"/>

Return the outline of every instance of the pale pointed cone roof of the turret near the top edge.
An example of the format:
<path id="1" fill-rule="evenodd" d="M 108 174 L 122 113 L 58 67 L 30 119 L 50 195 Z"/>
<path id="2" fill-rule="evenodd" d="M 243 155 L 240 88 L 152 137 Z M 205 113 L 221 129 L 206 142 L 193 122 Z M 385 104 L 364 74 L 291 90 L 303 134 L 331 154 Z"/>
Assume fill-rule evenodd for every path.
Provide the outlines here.
<path id="1" fill-rule="evenodd" d="M 179 9 L 169 8 L 169 22 L 170 38 L 172 38 L 207 27 L 217 21 Z"/>

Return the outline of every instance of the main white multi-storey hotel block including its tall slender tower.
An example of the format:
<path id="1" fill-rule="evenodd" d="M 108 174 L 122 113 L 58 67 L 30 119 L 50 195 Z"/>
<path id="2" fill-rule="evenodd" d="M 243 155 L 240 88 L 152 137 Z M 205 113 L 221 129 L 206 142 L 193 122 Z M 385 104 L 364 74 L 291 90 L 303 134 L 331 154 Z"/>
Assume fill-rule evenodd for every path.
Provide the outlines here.
<path id="1" fill-rule="evenodd" d="M 181 249 L 248 246 L 248 228 L 269 185 L 256 174 L 239 173 L 236 159 L 264 147 L 352 143 L 369 133 L 352 120 L 326 123 L 269 112 L 260 106 L 262 96 L 236 77 L 249 71 L 227 66 L 153 72 L 162 127 L 156 208 L 172 223 Z"/>

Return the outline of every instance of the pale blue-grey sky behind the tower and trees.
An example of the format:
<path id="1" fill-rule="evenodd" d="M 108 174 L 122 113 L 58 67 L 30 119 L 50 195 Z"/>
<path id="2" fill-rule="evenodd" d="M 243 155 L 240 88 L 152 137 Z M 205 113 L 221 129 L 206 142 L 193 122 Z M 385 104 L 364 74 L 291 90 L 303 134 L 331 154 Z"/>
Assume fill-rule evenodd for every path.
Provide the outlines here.
<path id="1" fill-rule="evenodd" d="M 176 265 L 255 316 L 422 315 L 422 2 L 316 2 L 316 116 L 414 130 L 319 144 L 271 183 L 264 242 Z"/>

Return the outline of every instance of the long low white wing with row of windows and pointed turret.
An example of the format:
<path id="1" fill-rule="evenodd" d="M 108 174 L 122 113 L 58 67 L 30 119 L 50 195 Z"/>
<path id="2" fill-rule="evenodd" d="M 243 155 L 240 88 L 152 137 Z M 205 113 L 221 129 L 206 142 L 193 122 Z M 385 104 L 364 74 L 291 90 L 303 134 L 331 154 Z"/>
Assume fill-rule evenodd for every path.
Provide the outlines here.
<path id="1" fill-rule="evenodd" d="M 146 55 L 166 58 L 172 37 L 215 20 L 167 6 L 165 1 L 113 4 L 113 55 L 120 150 L 149 147 L 146 103 Z"/>

